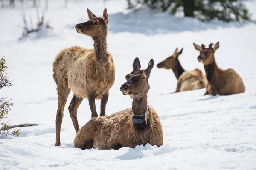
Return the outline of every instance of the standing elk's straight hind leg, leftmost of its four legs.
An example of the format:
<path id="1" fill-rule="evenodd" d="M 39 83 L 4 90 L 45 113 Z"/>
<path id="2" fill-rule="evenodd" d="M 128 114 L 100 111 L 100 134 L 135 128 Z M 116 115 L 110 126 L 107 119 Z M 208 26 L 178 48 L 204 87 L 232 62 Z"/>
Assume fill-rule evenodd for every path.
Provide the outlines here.
<path id="1" fill-rule="evenodd" d="M 61 123 L 63 118 L 63 111 L 67 102 L 67 96 L 70 93 L 70 88 L 58 88 L 58 109 L 56 114 L 56 143 L 55 146 L 61 145 Z"/>

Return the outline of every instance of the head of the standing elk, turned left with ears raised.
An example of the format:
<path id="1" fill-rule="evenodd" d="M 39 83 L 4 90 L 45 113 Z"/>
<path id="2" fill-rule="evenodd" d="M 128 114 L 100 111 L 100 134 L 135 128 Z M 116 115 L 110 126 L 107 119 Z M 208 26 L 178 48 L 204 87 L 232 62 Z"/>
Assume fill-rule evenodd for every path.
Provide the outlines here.
<path id="1" fill-rule="evenodd" d="M 85 23 L 76 24 L 76 31 L 78 33 L 88 35 L 90 37 L 96 37 L 102 34 L 104 30 L 107 30 L 108 25 L 108 13 L 107 8 L 104 9 L 103 18 L 96 17 L 90 9 L 87 9 L 89 21 Z"/>

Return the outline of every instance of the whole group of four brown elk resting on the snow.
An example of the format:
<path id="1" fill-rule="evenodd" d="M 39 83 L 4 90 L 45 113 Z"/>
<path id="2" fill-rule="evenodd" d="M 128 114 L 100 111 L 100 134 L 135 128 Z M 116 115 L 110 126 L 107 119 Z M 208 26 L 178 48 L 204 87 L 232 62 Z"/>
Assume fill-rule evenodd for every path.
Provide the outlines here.
<path id="1" fill-rule="evenodd" d="M 163 129 L 159 116 L 148 106 L 148 80 L 154 66 L 151 59 L 145 70 L 141 69 L 139 58 L 132 64 L 133 70 L 125 76 L 126 82 L 120 91 L 133 99 L 132 108 L 106 116 L 108 91 L 115 81 L 115 65 L 111 54 L 107 51 L 108 13 L 104 9 L 103 18 L 96 17 L 87 9 L 89 20 L 76 25 L 76 31 L 92 37 L 94 48 L 78 46 L 60 51 L 53 62 L 53 78 L 57 86 L 58 109 L 56 114 L 56 142 L 60 146 L 61 123 L 64 107 L 70 91 L 73 98 L 68 107 L 70 117 L 76 130 L 74 147 L 81 149 L 101 148 L 105 150 L 137 145 L 163 145 Z M 214 46 L 193 44 L 200 52 L 198 62 L 204 64 L 206 75 L 196 68 L 185 71 L 179 56 L 182 50 L 176 48 L 172 56 L 157 64 L 157 68 L 172 69 L 177 78 L 175 92 L 206 88 L 204 95 L 230 95 L 243 93 L 244 83 L 233 69 L 218 68 L 214 53 L 219 42 Z M 77 110 L 84 98 L 89 101 L 91 120 L 81 129 L 77 120 Z M 100 114 L 96 111 L 95 99 L 100 99 Z"/>

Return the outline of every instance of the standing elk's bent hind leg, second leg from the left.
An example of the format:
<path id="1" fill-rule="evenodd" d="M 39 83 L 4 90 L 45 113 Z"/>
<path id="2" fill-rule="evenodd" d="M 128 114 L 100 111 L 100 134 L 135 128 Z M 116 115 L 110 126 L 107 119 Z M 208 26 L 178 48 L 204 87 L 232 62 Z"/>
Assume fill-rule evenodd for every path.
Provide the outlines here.
<path id="1" fill-rule="evenodd" d="M 81 102 L 83 101 L 83 98 L 78 98 L 75 95 L 73 96 L 70 105 L 68 107 L 68 111 L 70 112 L 70 117 L 72 119 L 73 125 L 75 127 L 76 133 L 79 130 L 79 125 L 78 125 L 78 121 L 77 121 L 77 109 L 79 107 L 79 105 L 81 104 Z"/>

